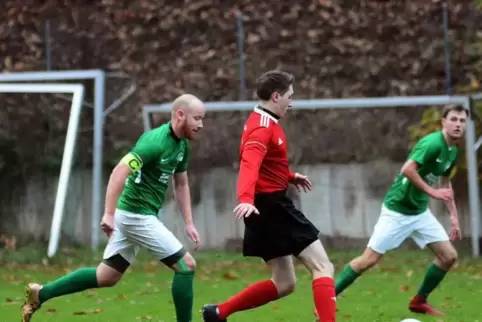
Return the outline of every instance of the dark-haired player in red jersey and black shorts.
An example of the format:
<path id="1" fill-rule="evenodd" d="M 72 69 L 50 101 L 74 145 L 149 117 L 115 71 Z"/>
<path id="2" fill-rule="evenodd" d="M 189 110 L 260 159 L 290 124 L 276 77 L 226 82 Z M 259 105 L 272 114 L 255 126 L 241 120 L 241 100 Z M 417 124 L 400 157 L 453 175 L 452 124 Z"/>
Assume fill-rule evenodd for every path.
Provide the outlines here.
<path id="1" fill-rule="evenodd" d="M 286 137 L 279 124 L 291 106 L 294 77 L 270 71 L 257 81 L 260 103 L 245 123 L 240 146 L 240 170 L 234 209 L 244 218 L 243 254 L 262 258 L 271 269 L 270 280 L 252 284 L 218 305 L 203 307 L 206 322 L 227 321 L 235 312 L 249 310 L 292 293 L 300 259 L 313 277 L 313 298 L 323 322 L 336 320 L 333 265 L 318 239 L 318 230 L 286 195 L 288 184 L 311 190 L 311 182 L 288 165 Z"/>

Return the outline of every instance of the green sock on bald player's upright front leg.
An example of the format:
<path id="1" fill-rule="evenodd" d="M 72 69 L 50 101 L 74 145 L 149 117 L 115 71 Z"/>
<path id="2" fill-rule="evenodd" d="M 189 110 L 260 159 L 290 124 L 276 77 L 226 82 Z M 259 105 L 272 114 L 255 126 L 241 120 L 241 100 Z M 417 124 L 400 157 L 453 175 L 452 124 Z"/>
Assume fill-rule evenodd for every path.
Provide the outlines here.
<path id="1" fill-rule="evenodd" d="M 177 322 L 192 321 L 194 272 L 175 272 L 172 281 L 172 299 Z"/>

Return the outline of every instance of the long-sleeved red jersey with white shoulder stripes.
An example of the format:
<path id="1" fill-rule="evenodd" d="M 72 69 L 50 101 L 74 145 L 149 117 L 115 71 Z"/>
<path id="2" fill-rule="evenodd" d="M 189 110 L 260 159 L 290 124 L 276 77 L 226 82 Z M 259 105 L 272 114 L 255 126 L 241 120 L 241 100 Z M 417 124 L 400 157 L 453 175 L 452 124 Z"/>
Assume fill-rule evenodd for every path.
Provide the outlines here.
<path id="1" fill-rule="evenodd" d="M 278 120 L 270 111 L 256 107 L 244 125 L 237 186 L 240 203 L 253 204 L 255 193 L 286 190 L 295 177 Z"/>

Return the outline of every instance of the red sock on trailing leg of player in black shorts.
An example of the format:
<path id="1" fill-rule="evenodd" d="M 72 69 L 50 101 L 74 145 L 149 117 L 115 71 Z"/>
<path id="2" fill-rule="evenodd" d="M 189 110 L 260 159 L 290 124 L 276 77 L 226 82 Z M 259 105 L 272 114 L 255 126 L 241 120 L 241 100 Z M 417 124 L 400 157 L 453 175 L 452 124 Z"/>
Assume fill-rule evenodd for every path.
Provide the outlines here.
<path id="1" fill-rule="evenodd" d="M 335 291 L 333 290 L 333 294 L 334 292 Z M 277 299 L 279 299 L 278 290 L 276 289 L 273 281 L 267 280 L 257 282 L 248 286 L 248 288 L 244 289 L 244 291 L 231 297 L 226 302 L 219 304 L 218 316 L 220 319 L 226 319 L 229 315 L 235 312 L 249 310 Z"/>

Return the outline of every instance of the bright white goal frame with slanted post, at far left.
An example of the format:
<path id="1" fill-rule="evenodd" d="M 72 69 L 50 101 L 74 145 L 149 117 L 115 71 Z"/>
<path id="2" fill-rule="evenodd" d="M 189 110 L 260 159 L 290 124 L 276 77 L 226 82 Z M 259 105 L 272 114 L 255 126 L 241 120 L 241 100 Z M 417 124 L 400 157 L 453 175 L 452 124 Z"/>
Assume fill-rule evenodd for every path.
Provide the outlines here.
<path id="1" fill-rule="evenodd" d="M 0 84 L 0 93 L 62 93 L 72 94 L 72 105 L 70 108 L 69 124 L 65 137 L 62 165 L 55 196 L 54 214 L 50 228 L 50 239 L 48 256 L 52 257 L 57 252 L 62 228 L 67 189 L 72 171 L 74 148 L 77 140 L 80 113 L 84 100 L 84 85 L 82 84 Z"/>

